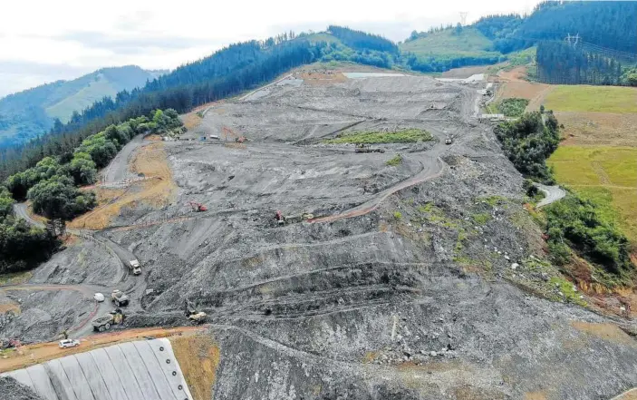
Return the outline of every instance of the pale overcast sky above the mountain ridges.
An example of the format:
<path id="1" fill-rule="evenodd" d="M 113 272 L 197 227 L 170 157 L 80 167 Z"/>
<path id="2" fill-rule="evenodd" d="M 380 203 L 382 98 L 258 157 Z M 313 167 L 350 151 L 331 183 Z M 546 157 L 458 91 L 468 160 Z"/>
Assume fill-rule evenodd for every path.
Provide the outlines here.
<path id="1" fill-rule="evenodd" d="M 31 0 L 3 2 L 0 97 L 106 66 L 172 69 L 224 45 L 343 24 L 394 40 L 481 15 L 531 11 L 536 0 Z M 376 5 L 378 3 L 379 5 Z"/>

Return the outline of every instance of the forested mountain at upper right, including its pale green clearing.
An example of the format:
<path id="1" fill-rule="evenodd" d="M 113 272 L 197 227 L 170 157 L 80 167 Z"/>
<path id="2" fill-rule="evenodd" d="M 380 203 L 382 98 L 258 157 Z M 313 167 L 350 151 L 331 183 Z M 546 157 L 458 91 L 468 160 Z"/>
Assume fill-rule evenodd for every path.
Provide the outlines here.
<path id="1" fill-rule="evenodd" d="M 411 69 L 440 72 L 497 63 L 542 41 L 564 41 L 568 34 L 577 35 L 588 53 L 637 53 L 637 2 L 545 2 L 526 17 L 489 15 L 471 26 L 413 32 L 401 51 Z"/>

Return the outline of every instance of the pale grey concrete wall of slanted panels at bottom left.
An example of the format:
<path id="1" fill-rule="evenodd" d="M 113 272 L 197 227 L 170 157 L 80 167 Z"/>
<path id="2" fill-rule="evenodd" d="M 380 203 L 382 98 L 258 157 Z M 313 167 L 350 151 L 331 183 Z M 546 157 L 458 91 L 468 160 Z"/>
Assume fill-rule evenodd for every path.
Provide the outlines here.
<path id="1" fill-rule="evenodd" d="M 46 400 L 190 400 L 168 339 L 122 343 L 2 374 Z"/>

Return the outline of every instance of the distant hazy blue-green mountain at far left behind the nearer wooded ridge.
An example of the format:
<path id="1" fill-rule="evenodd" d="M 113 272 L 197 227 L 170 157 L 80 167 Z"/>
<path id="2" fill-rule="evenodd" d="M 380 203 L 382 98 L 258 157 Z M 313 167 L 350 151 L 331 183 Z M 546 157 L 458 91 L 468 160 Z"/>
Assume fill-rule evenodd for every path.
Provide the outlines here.
<path id="1" fill-rule="evenodd" d="M 129 65 L 103 68 L 72 81 L 47 83 L 0 99 L 0 148 L 29 141 L 49 131 L 59 119 L 68 122 L 104 96 L 143 86 L 165 72 Z"/>

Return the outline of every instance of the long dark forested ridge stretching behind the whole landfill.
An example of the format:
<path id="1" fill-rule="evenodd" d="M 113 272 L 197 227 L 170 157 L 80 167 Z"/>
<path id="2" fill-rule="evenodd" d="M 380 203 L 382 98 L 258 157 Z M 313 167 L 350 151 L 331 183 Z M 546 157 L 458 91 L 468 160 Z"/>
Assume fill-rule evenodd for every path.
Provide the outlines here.
<path id="1" fill-rule="evenodd" d="M 513 51 L 545 40 L 563 41 L 566 34 L 579 33 L 580 45 L 587 46 L 580 54 L 560 55 L 564 46 L 540 45 L 538 68 L 542 77 L 555 80 L 555 76 L 571 76 L 569 73 L 575 71 L 568 78 L 573 83 L 637 82 L 637 72 L 628 70 L 634 65 L 617 63 L 613 57 L 593 51 L 608 48 L 613 52 L 634 52 L 636 31 L 637 2 L 552 2 L 538 5 L 526 17 L 492 15 L 470 26 L 458 24 L 414 32 L 400 45 L 380 35 L 334 25 L 320 34 L 286 33 L 261 42 L 232 44 L 152 80 L 143 88 L 101 98 L 82 112 L 73 113 L 67 123 L 37 125 L 34 128 L 39 130 L 37 133 L 50 131 L 28 144 L 0 149 L 0 178 L 32 167 L 47 155 L 63 154 L 111 123 L 148 115 L 155 109 L 187 112 L 199 104 L 252 89 L 294 66 L 316 61 L 351 61 L 383 68 L 442 72 L 505 61 Z M 551 72 L 552 68 L 555 71 Z M 630 79 L 618 79 L 618 74 Z M 38 89 L 42 93 L 52 91 L 48 87 Z M 54 104 L 31 108 L 23 105 L 24 113 L 40 115 L 38 122 L 46 122 L 47 112 L 56 110 Z M 0 117 L 0 130 L 14 129 L 12 123 Z"/>

